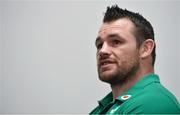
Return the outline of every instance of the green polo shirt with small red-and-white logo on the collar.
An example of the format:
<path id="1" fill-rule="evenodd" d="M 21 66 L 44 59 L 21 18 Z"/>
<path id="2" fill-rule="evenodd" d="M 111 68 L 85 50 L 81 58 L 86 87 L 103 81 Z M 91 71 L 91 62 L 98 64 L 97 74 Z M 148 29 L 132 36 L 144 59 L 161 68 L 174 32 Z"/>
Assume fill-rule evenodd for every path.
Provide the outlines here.
<path id="1" fill-rule="evenodd" d="M 160 84 L 156 74 L 148 74 L 113 100 L 112 92 L 99 101 L 90 114 L 180 114 L 175 96 Z"/>

